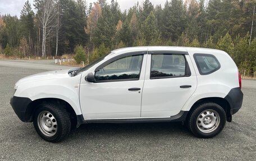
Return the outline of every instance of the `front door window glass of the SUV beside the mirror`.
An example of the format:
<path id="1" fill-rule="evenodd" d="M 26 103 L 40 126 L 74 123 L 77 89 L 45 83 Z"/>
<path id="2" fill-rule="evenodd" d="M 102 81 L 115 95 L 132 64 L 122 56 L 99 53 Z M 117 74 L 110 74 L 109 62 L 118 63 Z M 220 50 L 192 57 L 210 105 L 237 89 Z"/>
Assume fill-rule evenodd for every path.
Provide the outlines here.
<path id="1" fill-rule="evenodd" d="M 128 56 L 113 61 L 95 72 L 95 80 L 139 80 L 142 61 L 143 55 Z"/>

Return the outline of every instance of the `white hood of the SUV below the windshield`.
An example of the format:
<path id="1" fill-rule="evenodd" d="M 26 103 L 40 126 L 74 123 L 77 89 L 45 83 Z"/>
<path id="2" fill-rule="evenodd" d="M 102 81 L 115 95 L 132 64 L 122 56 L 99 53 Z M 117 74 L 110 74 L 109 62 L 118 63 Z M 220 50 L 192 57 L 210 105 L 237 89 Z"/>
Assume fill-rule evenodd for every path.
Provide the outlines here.
<path id="1" fill-rule="evenodd" d="M 49 71 L 37 73 L 35 75 L 27 76 L 16 82 L 15 86 L 19 86 L 24 83 L 34 82 L 34 81 L 43 81 L 49 79 L 60 79 L 64 77 L 70 77 L 68 75 L 69 70 L 59 70 L 59 71 Z"/>

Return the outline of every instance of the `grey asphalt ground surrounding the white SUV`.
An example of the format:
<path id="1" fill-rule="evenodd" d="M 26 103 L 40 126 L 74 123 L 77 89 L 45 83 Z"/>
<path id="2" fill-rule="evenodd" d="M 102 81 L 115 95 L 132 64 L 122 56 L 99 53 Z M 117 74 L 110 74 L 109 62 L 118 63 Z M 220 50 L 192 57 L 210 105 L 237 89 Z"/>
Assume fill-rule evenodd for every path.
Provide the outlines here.
<path id="1" fill-rule="evenodd" d="M 198 139 L 181 123 L 88 124 L 57 144 L 42 140 L 9 104 L 15 82 L 59 68 L 0 61 L 0 160 L 255 160 L 256 81 L 243 80 L 243 107 L 221 134 Z"/>

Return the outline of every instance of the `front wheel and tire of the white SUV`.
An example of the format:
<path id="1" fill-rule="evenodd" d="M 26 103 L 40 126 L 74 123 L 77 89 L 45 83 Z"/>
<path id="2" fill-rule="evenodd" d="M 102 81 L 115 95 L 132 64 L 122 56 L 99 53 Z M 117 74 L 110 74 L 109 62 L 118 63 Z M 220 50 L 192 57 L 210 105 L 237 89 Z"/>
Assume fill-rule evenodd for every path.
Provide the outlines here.
<path id="1" fill-rule="evenodd" d="M 36 108 L 33 125 L 42 139 L 60 142 L 70 133 L 70 114 L 61 105 L 42 103 Z"/>

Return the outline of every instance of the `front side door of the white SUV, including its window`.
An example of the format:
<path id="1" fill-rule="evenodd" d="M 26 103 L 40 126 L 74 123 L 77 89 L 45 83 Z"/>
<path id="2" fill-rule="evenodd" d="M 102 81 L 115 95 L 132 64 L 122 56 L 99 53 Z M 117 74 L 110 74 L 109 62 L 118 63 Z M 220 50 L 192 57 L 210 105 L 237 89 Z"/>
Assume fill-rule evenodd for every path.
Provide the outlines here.
<path id="1" fill-rule="evenodd" d="M 95 82 L 80 84 L 85 119 L 138 118 L 141 110 L 147 54 L 136 52 L 112 58 L 95 70 Z"/>

